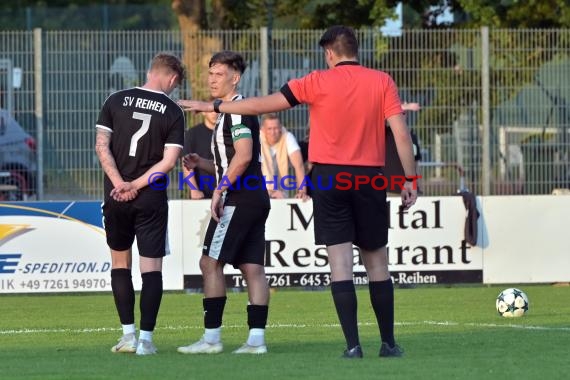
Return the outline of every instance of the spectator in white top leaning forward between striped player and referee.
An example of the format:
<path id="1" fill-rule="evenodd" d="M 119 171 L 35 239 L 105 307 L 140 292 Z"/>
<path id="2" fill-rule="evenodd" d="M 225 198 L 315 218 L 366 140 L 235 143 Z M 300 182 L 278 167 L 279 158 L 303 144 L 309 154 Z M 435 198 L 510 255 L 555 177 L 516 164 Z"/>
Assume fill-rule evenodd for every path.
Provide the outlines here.
<path id="1" fill-rule="evenodd" d="M 261 123 L 261 169 L 267 181 L 267 191 L 273 199 L 287 198 L 287 189 L 293 181 L 282 180 L 289 175 L 289 164 L 295 171 L 296 188 L 303 183 L 305 166 L 301 148 L 291 132 L 282 125 L 277 114 L 270 113 L 262 117 Z M 297 191 L 296 198 L 307 199 L 306 187 Z"/>

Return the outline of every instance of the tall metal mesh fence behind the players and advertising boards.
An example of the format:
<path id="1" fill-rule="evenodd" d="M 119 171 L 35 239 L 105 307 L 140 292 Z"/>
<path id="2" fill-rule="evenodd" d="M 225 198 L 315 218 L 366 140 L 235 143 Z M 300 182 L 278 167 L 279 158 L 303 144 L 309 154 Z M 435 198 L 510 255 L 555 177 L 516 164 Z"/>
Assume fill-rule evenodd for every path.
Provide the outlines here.
<path id="1" fill-rule="evenodd" d="M 0 108 L 36 141 L 33 159 L 10 162 L 18 154 L 3 145 L 6 128 L 0 128 L 0 171 L 25 175 L 29 197 L 100 199 L 102 172 L 93 149 L 98 111 L 112 91 L 143 83 L 156 52 L 179 54 L 190 69 L 174 98 L 206 97 L 205 64 L 221 49 L 244 55 L 240 91 L 255 96 L 325 68 L 321 34 L 265 28 L 193 35 L 0 32 Z M 569 30 L 405 30 L 386 37 L 367 29 L 358 38 L 362 64 L 390 73 L 402 99 L 422 105 L 407 117 L 422 145 L 425 194 L 455 193 L 462 173 L 478 194 L 569 187 Z M 305 138 L 305 106 L 280 116 Z M 189 125 L 194 122 L 189 117 Z M 8 188 L 0 187 L 0 198 Z M 173 188 L 170 197 L 185 194 Z"/>

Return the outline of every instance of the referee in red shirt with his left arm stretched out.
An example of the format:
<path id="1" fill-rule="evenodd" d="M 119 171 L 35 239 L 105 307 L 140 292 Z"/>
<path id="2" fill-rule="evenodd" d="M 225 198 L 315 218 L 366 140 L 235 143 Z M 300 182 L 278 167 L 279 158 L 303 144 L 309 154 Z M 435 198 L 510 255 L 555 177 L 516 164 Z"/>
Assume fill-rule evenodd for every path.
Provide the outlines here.
<path id="1" fill-rule="evenodd" d="M 358 41 L 351 28 L 333 26 L 321 37 L 328 70 L 292 79 L 279 92 L 234 102 L 205 103 L 184 100 L 189 111 L 256 115 L 309 105 L 309 161 L 314 164 L 313 184 L 319 176 L 342 173 L 343 181 L 331 189 L 313 190 L 315 242 L 327 247 L 331 267 L 331 291 L 347 348 L 345 358 L 361 358 L 357 299 L 353 283 L 353 244 L 369 280 L 370 300 L 380 329 L 381 357 L 399 357 L 403 350 L 394 339 L 394 287 L 388 270 L 388 208 L 386 191 L 360 182 L 382 174 L 385 159 L 385 127 L 388 121 L 406 181 L 402 205 L 417 198 L 412 140 L 392 78 L 358 63 Z M 388 179 L 388 182 L 390 180 Z M 328 183 L 323 182 L 321 183 Z M 342 185 L 341 185 L 342 184 Z M 340 189 L 344 190 L 340 190 Z"/>

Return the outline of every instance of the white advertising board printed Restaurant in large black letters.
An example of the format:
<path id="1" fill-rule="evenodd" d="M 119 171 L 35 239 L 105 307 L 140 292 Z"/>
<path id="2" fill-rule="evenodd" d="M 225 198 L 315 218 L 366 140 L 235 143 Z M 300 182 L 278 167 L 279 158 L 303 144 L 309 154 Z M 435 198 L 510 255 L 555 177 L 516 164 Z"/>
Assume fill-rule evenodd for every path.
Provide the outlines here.
<path id="1" fill-rule="evenodd" d="M 401 212 L 390 198 L 388 255 L 394 282 L 482 282 L 482 250 L 463 239 L 466 211 L 461 197 L 420 198 Z M 183 201 L 184 278 L 200 288 L 199 258 L 208 226 L 209 201 Z M 272 200 L 266 224 L 266 273 L 271 286 L 320 286 L 330 283 L 324 246 L 314 244 L 312 202 Z M 365 284 L 364 266 L 354 248 L 355 283 Z M 226 283 L 245 285 L 239 271 L 226 266 Z"/>

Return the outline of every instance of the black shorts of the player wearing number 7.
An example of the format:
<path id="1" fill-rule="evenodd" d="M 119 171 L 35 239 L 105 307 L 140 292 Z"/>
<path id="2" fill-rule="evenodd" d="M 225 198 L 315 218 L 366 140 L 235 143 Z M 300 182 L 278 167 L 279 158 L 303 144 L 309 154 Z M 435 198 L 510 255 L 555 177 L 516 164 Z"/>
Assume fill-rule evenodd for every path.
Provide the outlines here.
<path id="1" fill-rule="evenodd" d="M 131 202 L 117 202 L 108 198 L 102 209 L 107 244 L 111 249 L 130 249 L 136 237 L 140 256 L 159 258 L 166 255 L 166 193 L 145 189 Z"/>

